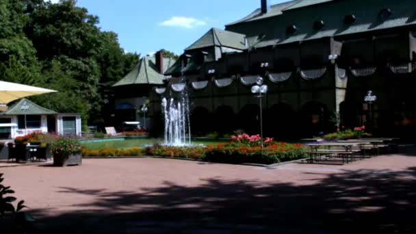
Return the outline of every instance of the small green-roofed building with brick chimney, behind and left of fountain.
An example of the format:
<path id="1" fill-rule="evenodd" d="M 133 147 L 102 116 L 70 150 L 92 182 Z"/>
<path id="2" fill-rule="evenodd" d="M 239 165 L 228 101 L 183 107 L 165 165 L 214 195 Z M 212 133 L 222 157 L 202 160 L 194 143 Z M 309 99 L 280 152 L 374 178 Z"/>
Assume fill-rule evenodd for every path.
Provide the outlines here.
<path id="1" fill-rule="evenodd" d="M 142 57 L 139 63 L 123 79 L 114 84 L 116 94 L 114 122 L 119 126 L 122 122 L 140 121 L 146 122 L 146 128 L 152 129 L 155 120 L 159 120 L 160 98 L 154 92 L 156 87 L 164 85 L 163 75 L 168 68 L 176 62 L 164 57 L 163 51 L 158 51 L 154 56 Z M 146 120 L 140 111 L 146 105 Z"/>

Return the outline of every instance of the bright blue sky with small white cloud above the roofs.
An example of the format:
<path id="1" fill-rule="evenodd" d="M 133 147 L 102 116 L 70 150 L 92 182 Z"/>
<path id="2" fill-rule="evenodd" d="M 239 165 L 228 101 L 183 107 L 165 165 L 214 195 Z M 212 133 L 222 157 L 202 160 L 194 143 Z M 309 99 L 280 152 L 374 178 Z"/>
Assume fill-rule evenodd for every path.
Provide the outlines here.
<path id="1" fill-rule="evenodd" d="M 259 8 L 260 0 L 77 0 L 77 5 L 99 16 L 101 29 L 116 32 L 125 51 L 146 55 L 162 48 L 181 54 L 211 27 L 224 29 Z"/>

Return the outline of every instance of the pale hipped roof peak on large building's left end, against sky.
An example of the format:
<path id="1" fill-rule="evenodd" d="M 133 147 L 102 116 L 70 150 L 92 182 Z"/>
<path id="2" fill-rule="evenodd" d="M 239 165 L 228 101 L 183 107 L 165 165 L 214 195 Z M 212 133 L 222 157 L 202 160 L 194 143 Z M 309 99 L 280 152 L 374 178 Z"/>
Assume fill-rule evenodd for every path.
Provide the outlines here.
<path id="1" fill-rule="evenodd" d="M 187 47 L 185 51 L 213 46 L 244 50 L 247 49 L 246 35 L 237 34 L 233 31 L 224 31 L 221 29 L 212 28 L 209 29 L 209 31 L 207 31 L 204 36 L 194 42 L 194 44 L 191 44 L 190 47 Z"/>

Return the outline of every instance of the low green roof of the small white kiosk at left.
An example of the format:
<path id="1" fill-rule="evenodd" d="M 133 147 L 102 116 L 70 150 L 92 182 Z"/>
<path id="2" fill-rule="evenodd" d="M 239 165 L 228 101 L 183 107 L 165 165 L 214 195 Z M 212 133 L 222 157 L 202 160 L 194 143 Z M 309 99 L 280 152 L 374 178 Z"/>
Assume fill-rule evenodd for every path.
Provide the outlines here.
<path id="1" fill-rule="evenodd" d="M 23 115 L 48 115 L 48 114 L 57 114 L 56 112 L 36 105 L 27 99 L 21 99 L 17 103 L 14 103 L 9 109 L 5 112 L 2 112 L 1 115 L 7 116 L 23 116 Z"/>

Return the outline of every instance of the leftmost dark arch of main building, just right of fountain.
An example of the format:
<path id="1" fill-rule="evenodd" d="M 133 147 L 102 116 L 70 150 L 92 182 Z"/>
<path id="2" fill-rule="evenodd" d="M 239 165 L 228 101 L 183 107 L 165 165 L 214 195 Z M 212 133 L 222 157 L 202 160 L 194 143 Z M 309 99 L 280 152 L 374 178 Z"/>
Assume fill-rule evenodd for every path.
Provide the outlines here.
<path id="1" fill-rule="evenodd" d="M 192 135 L 204 136 L 212 129 L 211 112 L 205 107 L 195 107 L 190 115 Z"/>

